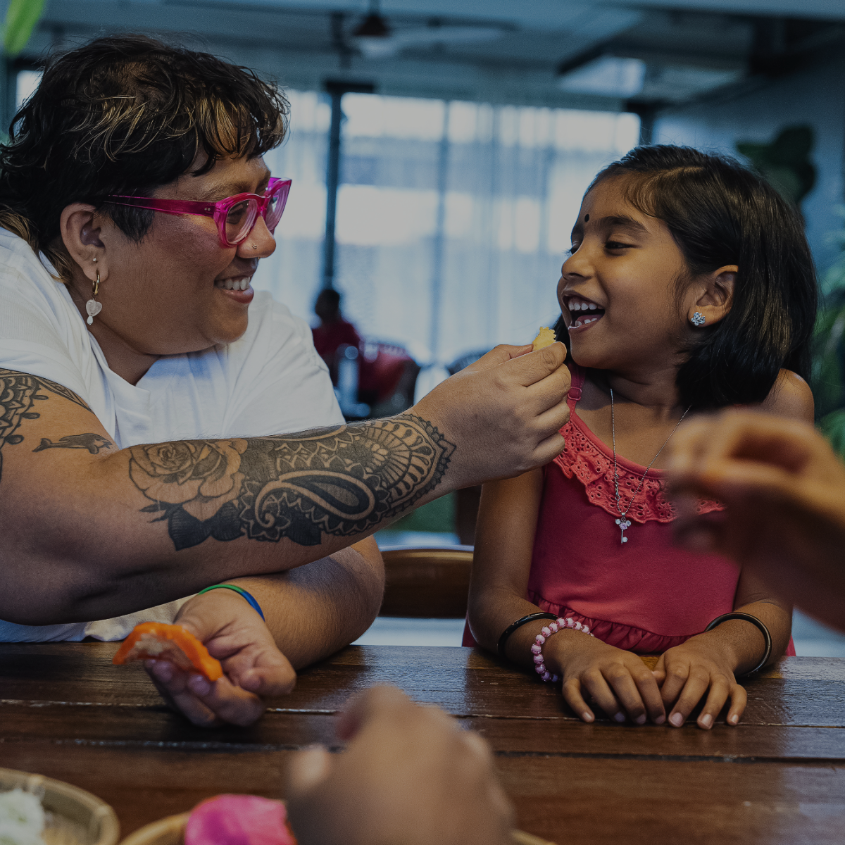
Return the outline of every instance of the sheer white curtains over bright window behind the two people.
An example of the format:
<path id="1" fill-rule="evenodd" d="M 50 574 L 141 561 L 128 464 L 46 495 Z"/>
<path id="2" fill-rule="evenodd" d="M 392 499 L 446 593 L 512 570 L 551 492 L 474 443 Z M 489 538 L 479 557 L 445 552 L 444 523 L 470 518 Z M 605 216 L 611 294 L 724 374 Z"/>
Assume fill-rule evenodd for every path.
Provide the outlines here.
<path id="1" fill-rule="evenodd" d="M 266 161 L 293 187 L 256 287 L 311 319 L 330 115 L 289 94 L 290 137 Z M 557 319 L 581 195 L 637 143 L 637 117 L 357 94 L 343 111 L 335 286 L 362 335 L 449 363 Z"/>

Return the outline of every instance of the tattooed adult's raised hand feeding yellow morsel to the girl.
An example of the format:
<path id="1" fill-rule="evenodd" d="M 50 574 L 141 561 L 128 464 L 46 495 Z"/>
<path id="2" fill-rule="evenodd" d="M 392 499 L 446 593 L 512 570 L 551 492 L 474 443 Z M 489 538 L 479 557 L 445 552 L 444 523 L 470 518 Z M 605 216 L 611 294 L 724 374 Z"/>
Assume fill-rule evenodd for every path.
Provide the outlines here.
<path id="1" fill-rule="evenodd" d="M 457 487 L 520 475 L 563 450 L 559 428 L 570 417 L 566 347 L 531 348 L 497 346 L 412 408 L 459 444 L 450 459 Z"/>

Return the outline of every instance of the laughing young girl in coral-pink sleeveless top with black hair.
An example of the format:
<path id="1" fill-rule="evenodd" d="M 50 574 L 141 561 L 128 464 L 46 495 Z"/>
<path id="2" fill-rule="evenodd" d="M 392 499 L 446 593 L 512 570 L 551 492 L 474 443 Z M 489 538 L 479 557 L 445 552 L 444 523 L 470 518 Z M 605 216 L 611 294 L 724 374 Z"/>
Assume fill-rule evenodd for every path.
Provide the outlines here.
<path id="1" fill-rule="evenodd" d="M 799 214 L 734 161 L 637 148 L 587 190 L 558 298 L 572 359 L 566 448 L 484 485 L 469 628 L 559 676 L 586 722 L 591 698 L 619 722 L 668 713 L 679 727 L 706 695 L 701 728 L 728 699 L 736 724 L 736 677 L 788 649 L 791 608 L 728 559 L 673 547 L 663 447 L 701 410 L 812 420 L 815 275 Z M 718 519 L 721 506 L 698 510 Z M 654 671 L 646 653 L 660 655 Z"/>

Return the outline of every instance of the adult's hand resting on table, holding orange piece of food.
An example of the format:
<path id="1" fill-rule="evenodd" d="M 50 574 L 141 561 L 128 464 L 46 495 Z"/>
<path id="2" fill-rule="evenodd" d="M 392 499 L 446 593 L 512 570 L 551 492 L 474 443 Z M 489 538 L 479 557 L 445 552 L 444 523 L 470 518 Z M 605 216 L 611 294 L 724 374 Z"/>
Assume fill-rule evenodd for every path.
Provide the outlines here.
<path id="1" fill-rule="evenodd" d="M 211 683 L 165 660 L 144 665 L 161 697 L 195 725 L 245 726 L 264 712 L 259 696 L 286 695 L 297 674 L 275 646 L 258 613 L 231 590 L 213 590 L 186 602 L 175 619 L 222 664 L 223 677 Z"/>

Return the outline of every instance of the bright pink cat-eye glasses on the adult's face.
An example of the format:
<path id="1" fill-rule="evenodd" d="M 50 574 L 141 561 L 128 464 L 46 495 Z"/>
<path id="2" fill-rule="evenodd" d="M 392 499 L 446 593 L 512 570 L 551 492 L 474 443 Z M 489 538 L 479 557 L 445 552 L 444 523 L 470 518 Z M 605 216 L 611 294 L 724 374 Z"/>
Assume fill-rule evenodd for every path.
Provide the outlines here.
<path id="1" fill-rule="evenodd" d="M 150 197 L 126 197 L 112 194 L 107 197 L 115 205 L 130 205 L 139 209 L 163 211 L 165 214 L 195 214 L 214 217 L 220 243 L 224 247 L 237 247 L 253 231 L 259 215 L 270 232 L 275 230 L 285 210 L 287 194 L 291 190 L 290 179 L 271 178 L 264 196 L 259 194 L 235 194 L 216 203 L 203 203 L 184 199 L 153 199 Z"/>

